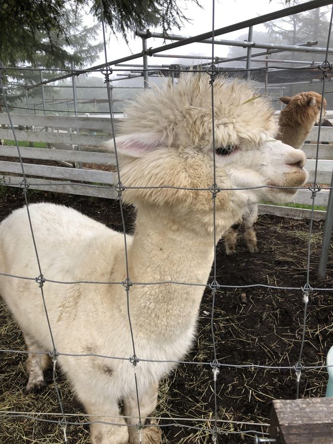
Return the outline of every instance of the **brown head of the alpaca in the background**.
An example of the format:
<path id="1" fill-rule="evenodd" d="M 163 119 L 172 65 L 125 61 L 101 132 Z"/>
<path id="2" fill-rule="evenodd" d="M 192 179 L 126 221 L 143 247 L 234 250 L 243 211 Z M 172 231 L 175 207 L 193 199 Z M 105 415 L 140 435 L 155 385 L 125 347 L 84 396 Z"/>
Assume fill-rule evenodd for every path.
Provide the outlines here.
<path id="1" fill-rule="evenodd" d="M 319 123 L 322 97 L 315 91 L 300 92 L 293 97 L 280 97 L 287 105 L 281 111 L 284 119 L 292 124 L 314 125 Z M 326 99 L 324 98 L 322 120 L 326 119 Z M 286 122 L 287 123 L 287 122 Z"/>

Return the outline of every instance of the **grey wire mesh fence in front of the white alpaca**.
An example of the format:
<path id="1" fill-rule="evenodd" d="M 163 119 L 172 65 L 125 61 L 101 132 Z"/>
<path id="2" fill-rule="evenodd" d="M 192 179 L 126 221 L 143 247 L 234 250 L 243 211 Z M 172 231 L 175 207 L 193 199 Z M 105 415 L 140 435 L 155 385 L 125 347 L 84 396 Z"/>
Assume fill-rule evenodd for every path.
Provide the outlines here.
<path id="1" fill-rule="evenodd" d="M 333 14 L 333 10 L 332 10 Z M 29 412 L 29 411 L 12 411 L 10 408 L 4 409 L 0 412 L 2 416 L 10 417 L 10 418 L 29 418 L 41 422 L 48 422 L 53 423 L 54 425 L 57 425 L 61 432 L 63 433 L 62 439 L 64 442 L 68 442 L 67 437 L 67 430 L 71 426 L 86 426 L 86 425 L 94 425 L 94 424 L 107 424 L 109 426 L 123 426 L 123 427 L 129 427 L 132 428 L 135 431 L 135 434 L 137 434 L 137 442 L 141 442 L 141 440 L 144 440 L 144 430 L 152 428 L 156 429 L 156 420 L 165 420 L 166 422 L 159 423 L 159 427 L 180 427 L 183 429 L 188 429 L 193 431 L 193 433 L 196 433 L 196 431 L 199 431 L 201 433 L 201 436 L 206 436 L 206 439 L 212 439 L 213 442 L 216 442 L 218 440 L 218 437 L 223 434 L 230 435 L 261 435 L 265 436 L 268 435 L 267 432 L 264 430 L 267 430 L 267 423 L 266 422 L 255 422 L 255 421 L 234 421 L 230 419 L 223 419 L 219 416 L 220 412 L 220 403 L 223 402 L 223 399 L 221 400 L 221 390 L 218 387 L 219 386 L 219 378 L 220 373 L 223 369 L 232 369 L 235 372 L 238 369 L 249 369 L 254 371 L 262 370 L 262 371 L 289 371 L 290 374 L 293 375 L 294 380 L 296 381 L 296 397 L 300 396 L 300 382 L 302 379 L 302 375 L 307 370 L 316 370 L 321 371 L 322 369 L 326 368 L 326 366 L 322 363 L 318 364 L 317 362 L 315 364 L 304 364 L 303 363 L 303 349 L 304 344 L 306 341 L 306 326 L 307 326 L 307 315 L 308 315 L 308 304 L 309 299 L 311 296 L 313 296 L 314 292 L 331 292 L 333 291 L 332 288 L 322 288 L 322 287 L 312 287 L 311 286 L 311 279 L 310 279 L 310 261 L 311 261 L 311 236 L 313 234 L 313 217 L 310 219 L 309 224 L 309 231 L 308 231 L 308 240 L 307 240 L 307 260 L 306 260 L 306 277 L 304 280 L 304 284 L 302 286 L 281 286 L 281 285 L 269 285 L 269 284 L 253 284 L 253 285 L 237 285 L 235 283 L 234 285 L 225 285 L 221 284 L 218 279 L 218 270 L 217 270 L 217 257 L 216 257 L 216 244 L 217 244 L 217 234 L 216 234 L 216 199 L 217 195 L 220 192 L 223 191 L 234 191 L 234 190 L 249 190 L 249 189 L 260 189 L 260 188 L 272 188 L 272 189 L 306 189 L 304 187 L 277 187 L 274 185 L 265 185 L 265 186 L 259 186 L 259 187 L 244 187 L 244 188 L 223 188 L 220 187 L 218 184 L 218 180 L 216 177 L 216 158 L 215 158 L 215 125 L 214 125 L 214 82 L 215 79 L 219 73 L 219 70 L 215 66 L 215 56 L 214 56 L 214 37 L 215 37 L 215 30 L 214 30 L 214 0 L 213 0 L 213 13 L 212 13 L 212 58 L 211 58 L 211 65 L 208 69 L 204 70 L 205 75 L 207 76 L 207 82 L 210 82 L 211 85 L 211 106 L 212 106 L 212 140 L 213 140 L 213 184 L 209 188 L 186 188 L 186 187 L 175 187 L 171 185 L 163 185 L 163 186 L 127 186 L 126 184 L 122 183 L 121 180 L 121 170 L 119 168 L 119 162 L 118 162 L 118 152 L 117 152 L 117 140 L 115 138 L 115 131 L 113 127 L 113 108 L 112 108 L 112 99 L 110 94 L 110 73 L 113 71 L 111 70 L 108 59 L 107 59 L 107 47 L 106 47 L 106 37 L 105 37 L 105 30 L 103 27 L 103 20 L 102 20 L 102 27 L 103 27 L 103 36 L 104 36 L 104 48 L 105 48 L 105 65 L 101 67 L 102 73 L 105 75 L 105 83 L 106 83 L 106 90 L 108 94 L 108 104 L 109 104 L 109 112 L 111 116 L 111 123 L 112 123 L 112 133 L 113 133 L 113 143 L 114 143 L 114 150 L 115 150 L 115 157 L 116 157 L 116 165 L 117 165 L 117 184 L 115 185 L 114 189 L 118 194 L 118 203 L 119 203 L 119 211 L 120 211 L 120 219 L 121 219 L 121 226 L 123 231 L 123 245 L 124 245 L 124 276 L 123 280 L 119 281 L 108 281 L 108 280 L 86 280 L 85 276 L 82 276 L 81 279 L 78 280 L 54 280 L 49 279 L 47 272 L 44 272 L 43 270 L 43 264 L 40 263 L 39 260 L 39 254 L 38 254 L 38 246 L 35 243 L 34 238 L 34 232 L 35 230 L 38 230 L 38 227 L 33 227 L 31 218 L 30 218 L 30 210 L 29 210 L 29 184 L 30 182 L 33 182 L 33 179 L 28 180 L 23 166 L 23 160 L 22 156 L 20 155 L 19 151 L 19 145 L 16 139 L 15 130 L 11 123 L 11 115 L 8 109 L 8 105 L 6 103 L 6 97 L 5 97 L 5 91 L 3 86 L 3 75 L 5 75 L 5 72 L 2 72 L 0 75 L 1 80 L 1 88 L 4 96 L 4 105 L 6 107 L 6 111 L 8 113 L 8 118 L 10 120 L 10 126 L 13 130 L 13 137 L 15 139 L 15 143 L 18 150 L 18 156 L 19 156 L 19 162 L 22 167 L 22 174 L 23 174 L 23 180 L 20 182 L 20 188 L 23 191 L 24 196 L 24 202 L 26 206 L 28 221 L 29 221 L 29 228 L 31 231 L 31 237 L 34 244 L 34 252 L 35 252 L 35 259 L 37 261 L 37 268 L 38 268 L 38 276 L 25 276 L 24 273 L 22 275 L 16 275 L 16 274 L 9 274 L 4 273 L 0 270 L 0 274 L 3 276 L 7 276 L 13 279 L 22 279 L 23 281 L 34 281 L 36 286 L 39 287 L 40 291 L 40 297 L 43 300 L 43 305 L 45 308 L 45 316 L 47 319 L 47 325 L 48 325 L 48 331 L 49 335 L 51 337 L 52 342 L 52 349 L 49 352 L 42 352 L 39 350 L 33 350 L 33 351 L 26 351 L 26 350 L 15 350 L 9 349 L 9 348 L 2 348 L 0 350 L 3 354 L 12 354 L 12 353 L 18 353 L 18 354 L 24 354 L 24 355 L 47 355 L 52 360 L 52 380 L 53 385 L 55 388 L 56 393 L 56 399 L 57 399 L 57 407 L 60 409 L 60 412 Z M 323 63 L 321 64 L 321 70 L 323 72 L 323 89 L 322 89 L 322 95 L 325 94 L 325 79 L 327 77 L 327 73 L 331 70 L 331 64 L 328 62 L 328 50 L 329 50 L 329 39 L 330 39 L 330 28 L 332 23 L 332 15 L 330 20 L 330 27 L 328 30 L 328 38 L 327 38 L 327 49 L 325 54 L 325 59 Z M 279 69 L 279 67 L 276 67 Z M 259 69 L 265 69 L 265 68 L 258 68 Z M 288 69 L 302 69 L 302 68 L 288 68 Z M 142 70 L 140 70 L 142 71 Z M 148 70 L 149 71 L 149 70 Z M 202 72 L 202 70 L 194 70 L 190 69 L 191 72 Z M 246 72 L 247 70 L 242 70 Z M 254 71 L 254 69 L 251 69 L 251 71 Z M 78 71 L 77 74 L 87 72 L 85 71 Z M 320 110 L 320 120 L 323 113 L 323 101 L 321 104 L 321 110 Z M 310 187 L 310 191 L 312 193 L 312 213 L 314 213 L 315 210 L 315 201 L 316 201 L 316 195 L 318 192 L 321 191 L 322 188 L 319 187 L 317 184 L 317 169 L 318 169 L 318 158 L 319 158 L 319 140 L 320 140 L 320 126 L 319 126 L 319 134 L 318 134 L 318 142 L 317 142 L 317 155 L 316 155 L 316 168 L 315 168 L 315 179 L 314 183 Z M 4 186 L 9 184 L 3 184 Z M 61 184 L 54 184 L 55 186 L 61 185 Z M 80 184 L 82 186 L 90 186 L 89 184 Z M 211 277 L 209 279 L 209 282 L 207 284 L 200 284 L 197 282 L 191 282 L 191 281 L 178 281 L 178 280 L 163 280 L 163 281 L 149 281 L 149 282 L 140 282 L 136 281 L 135 279 L 132 280 L 132 269 L 130 267 L 130 261 L 128 257 L 128 237 L 127 237 L 127 227 L 126 227 L 126 219 L 124 216 L 124 209 L 122 204 L 122 194 L 125 190 L 130 189 L 177 189 L 182 190 L 186 192 L 202 192 L 202 193 L 209 193 L 210 197 L 213 200 L 213 227 L 212 227 L 212 244 L 214 245 L 214 259 L 213 259 L 213 272 L 211 274 Z M 329 187 L 325 187 L 325 189 L 329 189 Z M 54 332 L 51 326 L 51 323 L 49 321 L 48 316 L 48 301 L 47 301 L 47 295 L 45 295 L 45 284 L 58 284 L 58 285 L 68 285 L 72 286 L 74 284 L 85 284 L 85 285 L 92 285 L 92 286 L 122 286 L 124 294 L 126 295 L 126 306 L 127 306 L 127 317 L 128 317 L 128 328 L 130 332 L 130 338 L 131 338 L 131 344 L 132 344 L 132 354 L 127 357 L 121 357 L 121 356 L 110 356 L 105 354 L 99 354 L 95 353 L 93 350 L 87 350 L 87 353 L 65 353 L 57 348 L 56 344 L 56 338 L 54 336 Z M 209 328 L 210 328 L 210 336 L 211 336 L 211 347 L 210 347 L 210 353 L 209 356 L 207 356 L 204 360 L 175 360 L 175 359 L 156 359 L 154 356 L 148 356 L 148 357 L 142 357 L 139 354 L 136 353 L 136 342 L 135 342 L 135 334 L 133 330 L 132 320 L 131 320 L 131 290 L 133 287 L 136 286 L 181 286 L 181 287 L 200 287 L 202 291 L 206 289 L 210 292 L 210 301 L 211 301 L 211 308 L 210 308 L 210 318 L 207 318 L 207 321 L 209 321 Z M 295 360 L 295 362 L 290 362 L 290 365 L 283 366 L 283 365 L 265 365 L 262 363 L 256 364 L 255 362 L 249 362 L 244 364 L 235 364 L 232 361 L 231 362 L 224 362 L 219 359 L 219 353 L 217 352 L 216 348 L 216 317 L 215 317 L 215 304 L 216 304 L 216 297 L 217 293 L 224 289 L 224 290 L 235 290 L 235 289 L 248 289 L 248 288 L 260 288 L 260 289 L 267 289 L 267 290 L 279 290 L 279 291 L 294 291 L 296 294 L 298 294 L 298 297 L 302 297 L 303 300 L 303 319 L 301 323 L 301 337 L 300 340 L 298 340 L 299 344 L 299 353 L 298 357 Z M 299 331 L 298 331 L 299 333 Z M 78 414 L 78 413 L 69 413 L 64 408 L 64 398 L 61 396 L 61 389 L 59 388 L 59 382 L 56 375 L 56 368 L 58 364 L 58 358 L 60 356 L 66 356 L 66 357 L 74 357 L 74 358 L 89 358 L 89 357 L 96 357 L 106 360 L 117 360 L 117 361 L 123 361 L 131 368 L 132 376 L 133 376 L 133 387 L 135 389 L 135 396 L 134 396 L 134 404 L 135 407 L 133 407 L 132 412 L 135 410 L 137 413 L 127 415 L 126 412 L 124 415 L 110 415 L 108 420 L 108 415 L 106 415 L 103 412 L 98 413 L 89 413 L 88 414 Z M 138 376 L 137 376 L 137 370 L 140 368 L 140 366 L 143 366 L 145 364 L 148 365 L 156 365 L 156 364 L 177 364 L 182 366 L 199 366 L 207 369 L 210 374 L 207 376 L 208 378 L 207 387 L 210 387 L 212 390 L 212 402 L 210 406 L 211 415 L 207 418 L 190 418 L 190 417 L 166 417 L 166 416 L 148 416 L 145 414 L 141 414 L 142 410 L 142 397 L 140 397 L 140 384 L 138 382 Z M 273 374 L 273 373 L 272 373 Z M 250 394 L 251 397 L 251 394 Z M 141 402 L 140 402 L 141 398 Z M 67 404 L 67 402 L 66 402 Z M 89 420 L 87 420 L 87 417 Z M 96 417 L 96 419 L 94 419 Z M 100 418 L 103 418 L 102 420 Z M 127 418 L 128 422 L 125 423 L 121 419 Z M 145 420 L 150 419 L 150 423 L 146 423 Z M 228 426 L 228 427 L 227 427 Z M 132 433 L 132 432 L 131 432 Z M 133 435 L 133 433 L 132 433 Z M 157 439 L 157 438 L 156 438 Z M 97 442 L 97 441 L 96 441 Z M 120 441 L 119 441 L 120 442 Z"/>

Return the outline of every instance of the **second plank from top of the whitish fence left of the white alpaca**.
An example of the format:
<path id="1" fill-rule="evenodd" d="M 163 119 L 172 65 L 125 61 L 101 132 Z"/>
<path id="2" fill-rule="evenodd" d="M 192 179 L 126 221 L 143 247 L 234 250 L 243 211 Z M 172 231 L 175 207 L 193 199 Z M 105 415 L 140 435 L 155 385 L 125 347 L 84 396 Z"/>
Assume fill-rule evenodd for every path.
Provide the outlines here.
<path id="1" fill-rule="evenodd" d="M 23 131 L 15 130 L 17 140 L 25 142 L 46 142 L 48 144 L 69 144 L 69 145 L 86 145 L 100 146 L 111 138 L 110 135 L 92 135 L 92 134 L 76 134 L 76 133 L 49 133 L 46 131 Z M 0 138 L 12 140 L 12 130 L 0 129 Z"/>

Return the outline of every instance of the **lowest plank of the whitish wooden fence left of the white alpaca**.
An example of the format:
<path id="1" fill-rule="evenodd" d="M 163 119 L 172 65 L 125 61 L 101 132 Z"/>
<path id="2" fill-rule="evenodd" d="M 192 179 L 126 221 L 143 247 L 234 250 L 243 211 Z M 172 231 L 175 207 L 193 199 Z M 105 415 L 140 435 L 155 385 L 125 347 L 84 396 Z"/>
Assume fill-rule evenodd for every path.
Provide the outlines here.
<path id="1" fill-rule="evenodd" d="M 19 182 L 23 179 L 23 177 L 19 176 L 0 176 L 0 187 L 1 182 L 6 184 L 11 184 L 11 187 L 18 188 Z M 63 183 L 62 181 L 58 181 L 57 184 L 55 180 L 47 180 L 47 179 L 31 179 L 31 184 L 29 189 L 33 190 L 44 190 L 44 191 L 52 191 L 57 193 L 69 193 L 69 194 L 78 194 L 81 196 L 91 196 L 91 197 L 103 197 L 107 199 L 116 199 L 118 193 L 110 188 L 98 188 L 97 186 L 91 185 L 89 187 L 85 187 L 78 184 L 71 183 Z"/>

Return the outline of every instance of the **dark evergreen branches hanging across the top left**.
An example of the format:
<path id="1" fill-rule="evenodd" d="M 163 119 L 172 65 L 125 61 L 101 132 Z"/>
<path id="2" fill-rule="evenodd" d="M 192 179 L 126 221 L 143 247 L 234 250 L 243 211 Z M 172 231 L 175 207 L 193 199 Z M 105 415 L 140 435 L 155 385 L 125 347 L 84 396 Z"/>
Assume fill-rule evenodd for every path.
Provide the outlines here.
<path id="1" fill-rule="evenodd" d="M 163 31 L 180 28 L 189 19 L 177 6 L 177 0 L 101 0 L 105 22 L 112 32 L 127 33 L 135 28 L 161 26 Z M 198 4 L 198 0 L 192 0 Z M 100 19 L 100 0 L 2 0 L 0 7 L 0 54 L 10 65 L 25 59 L 35 62 L 36 52 L 52 57 L 60 66 L 66 57 L 57 45 L 61 36 L 71 46 L 73 13 L 86 11 Z M 85 12 L 86 13 L 86 12 Z M 40 39 L 40 34 L 44 35 Z"/>

